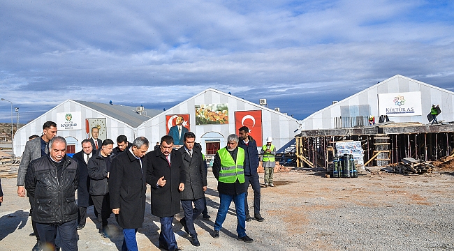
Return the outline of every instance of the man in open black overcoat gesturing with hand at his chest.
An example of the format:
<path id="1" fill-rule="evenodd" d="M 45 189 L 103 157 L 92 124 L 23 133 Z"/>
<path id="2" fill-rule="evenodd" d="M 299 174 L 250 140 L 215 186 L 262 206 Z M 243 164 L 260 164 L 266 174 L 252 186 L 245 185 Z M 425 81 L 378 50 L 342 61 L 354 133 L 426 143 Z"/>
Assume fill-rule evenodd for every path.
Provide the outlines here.
<path id="1" fill-rule="evenodd" d="M 147 183 L 152 186 L 152 214 L 161 221 L 159 248 L 180 250 L 172 229 L 174 215 L 180 213 L 180 199 L 186 182 L 182 156 L 172 151 L 173 138 L 161 138 L 160 151 L 147 153 Z"/>

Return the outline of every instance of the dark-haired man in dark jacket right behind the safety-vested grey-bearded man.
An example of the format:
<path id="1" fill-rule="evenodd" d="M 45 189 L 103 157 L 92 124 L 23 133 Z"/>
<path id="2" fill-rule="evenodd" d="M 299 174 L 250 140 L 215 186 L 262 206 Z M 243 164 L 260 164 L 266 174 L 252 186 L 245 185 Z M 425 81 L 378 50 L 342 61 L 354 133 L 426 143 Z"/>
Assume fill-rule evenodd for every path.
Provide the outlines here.
<path id="1" fill-rule="evenodd" d="M 244 209 L 246 211 L 246 221 L 251 221 L 251 215 L 249 215 L 249 206 L 247 206 L 247 189 L 249 184 L 254 190 L 254 220 L 263 222 L 265 220 L 260 215 L 260 182 L 258 181 L 258 151 L 256 141 L 249 136 L 249 128 L 243 126 L 238 130 L 240 134 L 240 142 L 238 146 L 244 149 L 244 180 L 246 183 L 246 195 L 244 198 Z"/>

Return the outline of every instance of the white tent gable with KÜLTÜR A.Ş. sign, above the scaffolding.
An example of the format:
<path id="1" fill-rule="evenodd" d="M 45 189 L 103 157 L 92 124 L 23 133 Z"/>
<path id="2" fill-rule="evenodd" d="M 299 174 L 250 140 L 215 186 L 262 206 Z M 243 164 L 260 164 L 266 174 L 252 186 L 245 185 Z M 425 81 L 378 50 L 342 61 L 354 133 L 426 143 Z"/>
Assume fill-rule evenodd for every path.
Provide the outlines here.
<path id="1" fill-rule="evenodd" d="M 454 93 L 402 75 L 395 75 L 300 121 L 302 130 L 367 126 L 367 118 L 386 115 L 394 122 L 428 123 L 432 104 L 441 107 L 439 121 L 454 120 Z"/>

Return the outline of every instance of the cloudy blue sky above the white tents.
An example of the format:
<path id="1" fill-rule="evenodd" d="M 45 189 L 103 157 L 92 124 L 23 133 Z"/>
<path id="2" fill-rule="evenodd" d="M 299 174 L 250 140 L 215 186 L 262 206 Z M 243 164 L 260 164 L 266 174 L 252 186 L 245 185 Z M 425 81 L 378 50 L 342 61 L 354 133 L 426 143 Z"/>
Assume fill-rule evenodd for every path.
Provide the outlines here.
<path id="1" fill-rule="evenodd" d="M 453 1 L 17 0 L 0 24 L 0 98 L 21 123 L 66 99 L 163 109 L 209 87 L 297 119 L 396 74 L 454 91 Z"/>

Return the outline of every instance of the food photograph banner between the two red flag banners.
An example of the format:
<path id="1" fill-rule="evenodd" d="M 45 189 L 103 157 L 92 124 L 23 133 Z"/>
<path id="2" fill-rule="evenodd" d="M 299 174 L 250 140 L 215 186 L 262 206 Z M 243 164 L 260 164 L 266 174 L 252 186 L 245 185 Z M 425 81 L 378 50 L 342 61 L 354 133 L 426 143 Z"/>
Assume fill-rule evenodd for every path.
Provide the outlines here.
<path id="1" fill-rule="evenodd" d="M 196 125 L 217 125 L 228 123 L 227 104 L 196 105 Z"/>

